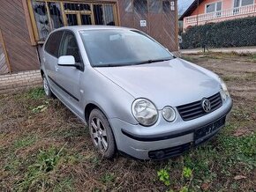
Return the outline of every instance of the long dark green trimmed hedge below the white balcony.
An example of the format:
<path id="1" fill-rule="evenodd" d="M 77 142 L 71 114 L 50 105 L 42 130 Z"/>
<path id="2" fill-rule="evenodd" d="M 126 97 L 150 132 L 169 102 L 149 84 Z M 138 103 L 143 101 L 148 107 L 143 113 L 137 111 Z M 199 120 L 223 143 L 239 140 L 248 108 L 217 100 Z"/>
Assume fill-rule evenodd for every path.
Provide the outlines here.
<path id="1" fill-rule="evenodd" d="M 256 46 L 256 17 L 192 26 L 182 33 L 181 48 Z"/>

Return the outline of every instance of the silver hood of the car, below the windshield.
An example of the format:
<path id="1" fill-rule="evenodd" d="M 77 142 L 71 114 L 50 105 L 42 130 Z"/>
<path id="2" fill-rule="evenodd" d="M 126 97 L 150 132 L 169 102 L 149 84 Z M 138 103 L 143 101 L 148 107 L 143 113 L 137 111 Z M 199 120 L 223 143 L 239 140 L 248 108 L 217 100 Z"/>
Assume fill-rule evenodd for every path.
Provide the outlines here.
<path id="1" fill-rule="evenodd" d="M 95 68 L 134 98 L 147 98 L 158 109 L 177 107 L 220 91 L 215 73 L 182 59 L 123 67 Z"/>

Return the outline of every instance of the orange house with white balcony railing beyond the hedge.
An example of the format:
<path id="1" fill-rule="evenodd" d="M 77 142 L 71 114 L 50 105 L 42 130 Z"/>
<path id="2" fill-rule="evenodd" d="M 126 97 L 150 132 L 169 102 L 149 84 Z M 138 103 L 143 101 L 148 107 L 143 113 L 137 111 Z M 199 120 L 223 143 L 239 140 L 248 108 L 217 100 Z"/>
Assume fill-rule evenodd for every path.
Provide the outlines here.
<path id="1" fill-rule="evenodd" d="M 195 0 L 179 20 L 184 31 L 197 25 L 256 16 L 256 0 Z"/>

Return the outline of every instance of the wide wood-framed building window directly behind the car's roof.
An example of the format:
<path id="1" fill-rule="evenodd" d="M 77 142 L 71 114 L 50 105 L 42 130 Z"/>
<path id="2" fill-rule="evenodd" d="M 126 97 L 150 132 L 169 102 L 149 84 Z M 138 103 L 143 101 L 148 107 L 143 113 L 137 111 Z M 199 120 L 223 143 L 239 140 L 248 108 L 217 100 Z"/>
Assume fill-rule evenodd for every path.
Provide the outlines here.
<path id="1" fill-rule="evenodd" d="M 45 41 L 52 30 L 62 26 L 117 25 L 116 4 L 80 1 L 27 0 L 35 41 Z"/>

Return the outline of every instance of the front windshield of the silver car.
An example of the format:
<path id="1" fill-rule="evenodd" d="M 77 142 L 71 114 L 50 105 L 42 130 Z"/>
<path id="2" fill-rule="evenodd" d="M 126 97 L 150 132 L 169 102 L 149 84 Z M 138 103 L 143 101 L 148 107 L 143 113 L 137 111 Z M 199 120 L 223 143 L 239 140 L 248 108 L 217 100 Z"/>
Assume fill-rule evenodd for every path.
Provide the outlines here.
<path id="1" fill-rule="evenodd" d="M 154 63 L 173 58 L 159 43 L 129 30 L 85 30 L 80 36 L 94 67 Z"/>

